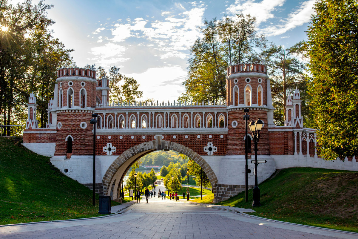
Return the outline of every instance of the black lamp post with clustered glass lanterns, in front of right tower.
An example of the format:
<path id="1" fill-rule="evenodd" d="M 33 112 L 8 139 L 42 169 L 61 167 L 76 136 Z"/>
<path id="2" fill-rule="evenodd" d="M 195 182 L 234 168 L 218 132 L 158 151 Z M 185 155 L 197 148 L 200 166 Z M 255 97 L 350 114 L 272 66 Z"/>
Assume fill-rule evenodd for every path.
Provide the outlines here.
<path id="1" fill-rule="evenodd" d="M 252 132 L 252 137 L 255 143 L 254 150 L 255 150 L 255 187 L 252 190 L 252 206 L 261 206 L 260 203 L 260 188 L 257 186 L 257 143 L 260 139 L 260 130 L 262 129 L 263 122 L 260 120 L 256 120 L 255 123 L 253 123 L 253 120 L 248 125 L 250 127 L 250 130 Z"/>

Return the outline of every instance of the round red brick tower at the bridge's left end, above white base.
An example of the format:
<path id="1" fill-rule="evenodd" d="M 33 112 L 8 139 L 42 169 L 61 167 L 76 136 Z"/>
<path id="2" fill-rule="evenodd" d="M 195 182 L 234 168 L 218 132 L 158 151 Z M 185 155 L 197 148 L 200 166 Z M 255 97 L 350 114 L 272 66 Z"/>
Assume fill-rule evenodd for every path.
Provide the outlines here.
<path id="1" fill-rule="evenodd" d="M 57 76 L 57 102 L 53 106 L 57 112 L 55 155 L 89 155 L 93 144 L 89 120 L 96 106 L 96 71 L 61 68 Z"/>

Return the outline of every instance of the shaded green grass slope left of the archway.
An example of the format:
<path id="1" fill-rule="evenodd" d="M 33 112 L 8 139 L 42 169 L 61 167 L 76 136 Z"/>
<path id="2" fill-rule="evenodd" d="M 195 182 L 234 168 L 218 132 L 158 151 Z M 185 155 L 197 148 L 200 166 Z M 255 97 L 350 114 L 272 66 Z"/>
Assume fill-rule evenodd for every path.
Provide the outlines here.
<path id="1" fill-rule="evenodd" d="M 1 225 L 101 216 L 98 195 L 92 206 L 92 191 L 63 175 L 48 157 L 3 137 L 0 148 Z"/>

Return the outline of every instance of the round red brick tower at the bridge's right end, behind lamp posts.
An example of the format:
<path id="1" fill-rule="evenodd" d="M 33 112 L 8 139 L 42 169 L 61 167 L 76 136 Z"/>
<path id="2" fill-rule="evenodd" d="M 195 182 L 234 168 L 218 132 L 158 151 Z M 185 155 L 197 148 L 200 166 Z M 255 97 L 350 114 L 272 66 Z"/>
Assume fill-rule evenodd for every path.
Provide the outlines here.
<path id="1" fill-rule="evenodd" d="M 227 71 L 228 138 L 227 155 L 245 155 L 244 109 L 249 109 L 250 121 L 260 118 L 265 124 L 260 132 L 259 154 L 269 154 L 269 123 L 272 107 L 270 81 L 262 64 L 238 64 Z M 268 123 L 269 118 L 269 123 Z M 249 122 L 248 122 L 249 123 Z M 248 134 L 251 137 L 250 129 Z"/>

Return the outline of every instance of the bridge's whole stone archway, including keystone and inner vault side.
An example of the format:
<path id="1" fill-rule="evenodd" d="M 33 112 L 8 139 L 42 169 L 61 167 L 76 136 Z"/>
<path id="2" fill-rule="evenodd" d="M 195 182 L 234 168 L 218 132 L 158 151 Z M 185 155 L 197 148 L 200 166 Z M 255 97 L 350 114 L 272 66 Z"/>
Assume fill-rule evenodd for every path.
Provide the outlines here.
<path id="1" fill-rule="evenodd" d="M 118 156 L 115 161 L 113 161 L 111 166 L 108 167 L 107 172 L 103 176 L 102 182 L 104 195 L 110 196 L 113 190 L 113 200 L 117 199 L 118 187 L 120 186 L 120 183 L 122 182 L 125 173 L 132 166 L 132 164 L 134 164 L 134 162 L 136 162 L 140 157 L 144 156 L 145 154 L 154 152 L 156 150 L 164 149 L 174 150 L 176 152 L 182 153 L 188 156 L 197 164 L 199 164 L 199 166 L 203 169 L 204 173 L 208 176 L 214 193 L 214 201 L 216 201 L 218 180 L 213 169 L 205 161 L 205 159 L 201 157 L 198 153 L 194 152 L 188 147 L 185 147 L 184 145 L 165 141 L 161 138 L 161 135 L 156 136 L 156 140 L 135 145 L 124 151 L 120 156 Z"/>

